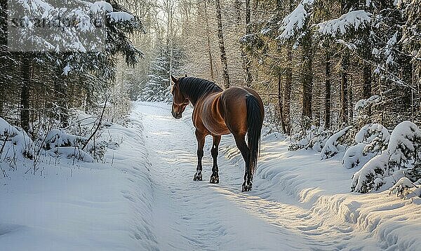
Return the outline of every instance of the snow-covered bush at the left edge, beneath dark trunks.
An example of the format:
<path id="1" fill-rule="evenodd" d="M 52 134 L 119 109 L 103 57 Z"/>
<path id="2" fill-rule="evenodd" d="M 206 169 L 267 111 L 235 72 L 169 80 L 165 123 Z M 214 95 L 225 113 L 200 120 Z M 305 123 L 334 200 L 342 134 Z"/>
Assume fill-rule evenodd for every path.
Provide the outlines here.
<path id="1" fill-rule="evenodd" d="M 0 154 L 3 158 L 15 158 L 17 154 L 20 157 L 32 158 L 34 155 L 29 135 L 3 118 L 0 118 Z"/>

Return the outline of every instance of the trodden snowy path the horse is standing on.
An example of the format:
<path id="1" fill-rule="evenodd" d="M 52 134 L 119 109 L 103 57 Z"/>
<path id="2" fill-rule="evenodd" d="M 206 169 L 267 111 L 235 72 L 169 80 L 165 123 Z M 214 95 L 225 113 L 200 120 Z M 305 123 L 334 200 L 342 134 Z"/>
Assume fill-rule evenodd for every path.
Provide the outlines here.
<path id="1" fill-rule="evenodd" d="M 175 120 L 162 104 L 140 103 L 135 109 L 144 115 L 155 199 L 152 224 L 160 250 L 380 249 L 370 233 L 303 207 L 276 184 L 267 186 L 255 177 L 254 190 L 241 193 L 243 163 L 232 163 L 222 153 L 220 184 L 209 184 L 211 138 L 206 139 L 203 182 L 193 182 L 196 140 L 188 111 Z"/>

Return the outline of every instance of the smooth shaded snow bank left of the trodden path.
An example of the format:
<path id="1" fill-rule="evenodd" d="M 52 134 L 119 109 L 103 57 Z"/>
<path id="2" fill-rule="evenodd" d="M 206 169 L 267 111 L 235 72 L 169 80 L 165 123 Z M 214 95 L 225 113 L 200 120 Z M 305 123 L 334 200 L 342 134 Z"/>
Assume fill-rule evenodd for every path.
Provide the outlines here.
<path id="1" fill-rule="evenodd" d="M 141 121 L 133 111 L 128 128 L 107 129 L 123 142 L 105 163 L 44 158 L 42 173 L 26 161 L 1 177 L 0 250 L 156 250 Z"/>

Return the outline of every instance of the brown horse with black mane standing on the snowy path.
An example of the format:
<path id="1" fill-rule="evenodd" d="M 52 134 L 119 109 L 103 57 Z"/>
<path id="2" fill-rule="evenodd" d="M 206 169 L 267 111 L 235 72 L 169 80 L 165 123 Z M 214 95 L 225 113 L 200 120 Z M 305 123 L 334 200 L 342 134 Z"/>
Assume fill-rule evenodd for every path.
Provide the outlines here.
<path id="1" fill-rule="evenodd" d="M 182 112 L 189 102 L 193 104 L 192 120 L 196 128 L 197 168 L 193 180 L 202 180 L 203 146 L 206 135 L 212 135 L 213 147 L 210 151 L 213 158 L 210 183 L 219 183 L 218 175 L 218 145 L 221 135 L 232 133 L 236 146 L 241 151 L 246 162 L 246 172 L 242 191 L 250 191 L 253 184 L 253 172 L 258 163 L 260 151 L 260 133 L 262 130 L 263 110 L 262 99 L 250 88 L 232 87 L 222 90 L 215 83 L 193 77 L 181 77 L 173 81 L 174 118 L 181 118 Z M 246 133 L 248 142 L 246 144 Z"/>

